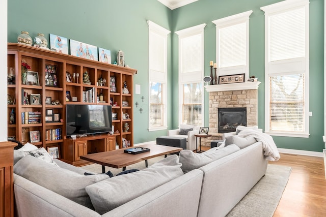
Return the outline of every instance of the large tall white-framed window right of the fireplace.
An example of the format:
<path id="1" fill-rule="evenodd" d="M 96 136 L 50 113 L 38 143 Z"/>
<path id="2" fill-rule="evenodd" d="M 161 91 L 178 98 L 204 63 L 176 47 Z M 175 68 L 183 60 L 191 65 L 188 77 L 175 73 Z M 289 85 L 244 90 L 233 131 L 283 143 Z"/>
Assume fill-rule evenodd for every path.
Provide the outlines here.
<path id="1" fill-rule="evenodd" d="M 283 1 L 265 12 L 265 131 L 309 136 L 309 1 Z"/>

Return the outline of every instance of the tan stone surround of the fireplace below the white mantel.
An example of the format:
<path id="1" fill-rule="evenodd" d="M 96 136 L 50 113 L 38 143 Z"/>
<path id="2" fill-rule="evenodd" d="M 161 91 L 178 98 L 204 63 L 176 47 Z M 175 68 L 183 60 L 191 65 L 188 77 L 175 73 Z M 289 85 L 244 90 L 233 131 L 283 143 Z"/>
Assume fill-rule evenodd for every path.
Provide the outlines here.
<path id="1" fill-rule="evenodd" d="M 202 139 L 202 146 L 210 146 L 210 141 L 222 139 L 218 133 L 218 108 L 247 108 L 247 126 L 258 125 L 258 90 L 228 90 L 209 92 L 209 134 L 212 137 Z"/>

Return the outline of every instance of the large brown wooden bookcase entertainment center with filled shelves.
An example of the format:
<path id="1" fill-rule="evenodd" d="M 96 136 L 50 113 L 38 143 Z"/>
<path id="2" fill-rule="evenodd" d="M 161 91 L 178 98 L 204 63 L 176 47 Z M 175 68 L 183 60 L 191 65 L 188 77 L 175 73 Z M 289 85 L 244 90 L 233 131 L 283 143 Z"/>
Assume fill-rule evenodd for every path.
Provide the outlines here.
<path id="1" fill-rule="evenodd" d="M 25 84 L 22 61 L 31 67 Z M 133 146 L 133 75 L 137 70 L 17 43 L 8 43 L 10 68 L 15 77 L 8 84 L 8 138 L 26 143 L 32 135 L 35 141 L 31 143 L 45 149 L 59 147 L 60 159 L 76 166 L 87 164 L 79 158 L 87 153 L 114 150 L 116 144 L 122 148 L 127 141 Z M 83 83 L 85 72 L 87 84 Z M 99 79 L 106 82 L 101 85 Z M 128 92 L 123 92 L 124 85 Z M 98 102 L 100 94 L 103 101 Z M 34 102 L 31 95 L 39 99 Z M 112 106 L 113 135 L 67 138 L 66 105 L 110 105 L 110 101 L 116 103 Z"/>

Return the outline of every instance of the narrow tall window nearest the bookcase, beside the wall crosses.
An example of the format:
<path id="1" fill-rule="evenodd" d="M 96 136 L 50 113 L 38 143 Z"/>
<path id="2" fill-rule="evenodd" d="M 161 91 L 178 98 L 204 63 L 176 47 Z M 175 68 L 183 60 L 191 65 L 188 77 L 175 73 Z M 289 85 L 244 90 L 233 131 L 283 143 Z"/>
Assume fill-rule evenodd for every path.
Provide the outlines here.
<path id="1" fill-rule="evenodd" d="M 148 130 L 167 129 L 167 49 L 169 30 L 148 23 L 149 118 Z"/>

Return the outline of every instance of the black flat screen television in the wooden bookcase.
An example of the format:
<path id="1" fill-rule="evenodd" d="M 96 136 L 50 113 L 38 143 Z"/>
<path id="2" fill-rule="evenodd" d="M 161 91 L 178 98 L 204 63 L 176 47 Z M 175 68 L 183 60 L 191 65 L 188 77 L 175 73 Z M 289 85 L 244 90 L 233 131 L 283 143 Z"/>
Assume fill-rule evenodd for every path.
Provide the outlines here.
<path id="1" fill-rule="evenodd" d="M 67 137 L 110 132 L 112 132 L 112 106 L 66 105 Z"/>

